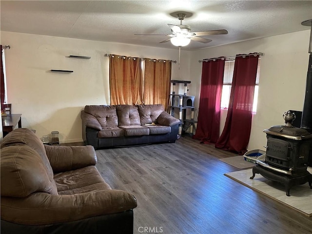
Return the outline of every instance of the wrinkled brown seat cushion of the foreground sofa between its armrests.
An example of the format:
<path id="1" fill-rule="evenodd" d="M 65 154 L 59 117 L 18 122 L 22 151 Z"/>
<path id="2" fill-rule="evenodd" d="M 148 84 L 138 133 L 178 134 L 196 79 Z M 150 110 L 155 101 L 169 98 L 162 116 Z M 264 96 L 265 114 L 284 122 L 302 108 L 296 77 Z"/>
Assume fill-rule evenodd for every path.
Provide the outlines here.
<path id="1" fill-rule="evenodd" d="M 111 189 L 105 183 L 95 166 L 88 166 L 73 171 L 54 175 L 59 195 L 73 195 Z"/>

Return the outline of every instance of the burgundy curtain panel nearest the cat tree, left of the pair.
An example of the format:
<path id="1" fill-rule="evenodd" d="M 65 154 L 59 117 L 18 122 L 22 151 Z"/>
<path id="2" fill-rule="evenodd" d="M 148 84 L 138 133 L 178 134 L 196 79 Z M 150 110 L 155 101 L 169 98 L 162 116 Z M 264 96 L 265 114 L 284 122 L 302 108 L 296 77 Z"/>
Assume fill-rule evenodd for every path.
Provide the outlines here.
<path id="1" fill-rule="evenodd" d="M 220 132 L 220 103 L 225 59 L 203 62 L 199 111 L 194 139 L 215 143 Z"/>

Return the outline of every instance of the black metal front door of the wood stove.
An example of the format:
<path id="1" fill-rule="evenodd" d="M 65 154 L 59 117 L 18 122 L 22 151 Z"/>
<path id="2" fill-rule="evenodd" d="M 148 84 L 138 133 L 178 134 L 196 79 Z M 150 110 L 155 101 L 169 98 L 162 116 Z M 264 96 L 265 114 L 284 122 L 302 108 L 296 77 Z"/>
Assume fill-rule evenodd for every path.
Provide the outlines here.
<path id="1" fill-rule="evenodd" d="M 289 167 L 290 149 L 292 149 L 290 142 L 276 138 L 269 138 L 267 141 L 266 162 L 279 168 Z"/>

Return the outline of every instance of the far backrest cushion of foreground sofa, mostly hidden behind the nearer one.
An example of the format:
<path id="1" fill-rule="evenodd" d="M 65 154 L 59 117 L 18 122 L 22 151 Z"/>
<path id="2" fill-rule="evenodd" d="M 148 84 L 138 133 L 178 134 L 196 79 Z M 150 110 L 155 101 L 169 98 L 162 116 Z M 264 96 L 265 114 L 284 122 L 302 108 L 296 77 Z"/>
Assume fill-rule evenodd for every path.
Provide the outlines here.
<path id="1" fill-rule="evenodd" d="M 34 149 L 42 159 L 42 163 L 46 168 L 50 182 L 54 183 L 53 170 L 46 155 L 44 145 L 33 131 L 27 128 L 15 129 L 2 139 L 0 148 L 2 149 L 12 145 L 28 145 L 30 148 Z"/>

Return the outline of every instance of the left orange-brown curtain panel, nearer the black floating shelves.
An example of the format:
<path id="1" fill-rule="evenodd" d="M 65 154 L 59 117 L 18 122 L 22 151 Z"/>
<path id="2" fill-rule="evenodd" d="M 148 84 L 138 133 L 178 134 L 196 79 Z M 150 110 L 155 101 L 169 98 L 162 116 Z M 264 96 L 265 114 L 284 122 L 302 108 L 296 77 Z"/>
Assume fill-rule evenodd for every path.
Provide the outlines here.
<path id="1" fill-rule="evenodd" d="M 110 55 L 111 105 L 142 104 L 142 69 L 139 58 Z"/>

